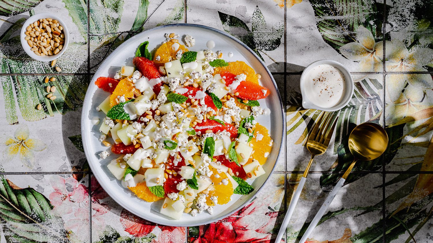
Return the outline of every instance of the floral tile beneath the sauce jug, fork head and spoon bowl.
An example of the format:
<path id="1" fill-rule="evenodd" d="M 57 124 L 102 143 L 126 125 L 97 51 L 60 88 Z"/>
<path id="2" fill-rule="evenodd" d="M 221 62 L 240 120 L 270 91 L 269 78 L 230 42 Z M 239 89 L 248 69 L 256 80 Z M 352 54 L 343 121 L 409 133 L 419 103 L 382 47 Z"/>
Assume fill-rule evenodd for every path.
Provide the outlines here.
<path id="1" fill-rule="evenodd" d="M 324 155 L 314 158 L 311 170 L 316 171 L 342 171 L 352 162 L 347 141 L 349 133 L 355 125 L 363 122 L 383 124 L 383 78 L 382 75 L 353 75 L 355 92 L 350 103 L 339 111 L 333 112 L 338 116 L 335 135 Z M 308 133 L 315 124 L 321 111 L 304 109 L 301 107 L 301 91 L 299 87 L 300 75 L 288 75 L 286 85 L 286 121 L 287 121 L 287 170 L 304 171 L 310 159 L 310 152 L 305 147 Z M 326 112 L 327 114 L 327 112 Z M 349 154 L 349 155 L 347 155 Z M 362 166 L 355 170 L 374 171 L 382 167 L 381 159 Z"/>

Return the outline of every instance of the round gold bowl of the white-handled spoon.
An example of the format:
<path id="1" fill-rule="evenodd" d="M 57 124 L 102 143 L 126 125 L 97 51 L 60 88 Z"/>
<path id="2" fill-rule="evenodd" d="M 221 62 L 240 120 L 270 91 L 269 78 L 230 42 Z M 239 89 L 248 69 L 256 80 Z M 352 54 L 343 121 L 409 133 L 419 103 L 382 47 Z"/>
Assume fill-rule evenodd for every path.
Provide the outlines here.
<path id="1" fill-rule="evenodd" d="M 349 136 L 349 150 L 355 160 L 373 160 L 381 156 L 388 145 L 388 135 L 376 123 L 362 123 Z"/>

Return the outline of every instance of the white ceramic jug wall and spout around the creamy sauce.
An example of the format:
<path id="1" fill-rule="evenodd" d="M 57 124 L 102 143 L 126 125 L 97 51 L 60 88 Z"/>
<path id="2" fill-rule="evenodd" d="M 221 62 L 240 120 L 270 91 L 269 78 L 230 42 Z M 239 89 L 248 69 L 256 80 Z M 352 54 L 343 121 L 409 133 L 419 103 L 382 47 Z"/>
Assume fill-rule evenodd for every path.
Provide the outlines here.
<path id="1" fill-rule="evenodd" d="M 305 78 L 307 76 L 307 73 L 313 67 L 319 66 L 321 64 L 329 64 L 329 65 L 335 66 L 343 74 L 344 81 L 346 82 L 346 91 L 343 94 L 343 98 L 341 99 L 341 101 L 339 103 L 337 103 L 333 107 L 324 108 L 324 107 L 317 106 L 316 104 L 313 104 L 308 99 L 308 97 L 306 95 L 308 91 L 305 90 L 305 85 L 304 84 L 305 84 Z M 336 111 L 336 110 L 340 110 L 341 108 L 345 107 L 349 103 L 350 99 L 352 98 L 353 87 L 354 87 L 354 85 L 353 85 L 352 75 L 350 75 L 349 70 L 345 66 L 343 66 L 343 64 L 341 64 L 339 62 L 336 62 L 334 60 L 318 60 L 318 61 L 315 61 L 315 62 L 311 63 L 310 65 L 308 65 L 304 69 L 304 71 L 302 72 L 302 75 L 301 75 L 302 107 L 304 107 L 305 109 L 316 109 L 316 110 L 324 110 L 324 111 Z"/>

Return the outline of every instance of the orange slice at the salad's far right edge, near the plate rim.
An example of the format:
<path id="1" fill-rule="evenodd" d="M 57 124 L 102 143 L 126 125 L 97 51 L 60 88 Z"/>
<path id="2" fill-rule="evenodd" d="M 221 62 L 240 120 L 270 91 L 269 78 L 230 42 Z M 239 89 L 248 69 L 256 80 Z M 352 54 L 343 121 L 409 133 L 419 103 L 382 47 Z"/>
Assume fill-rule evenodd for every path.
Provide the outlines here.
<path id="1" fill-rule="evenodd" d="M 267 155 L 271 152 L 272 139 L 266 127 L 255 124 L 254 137 L 251 139 L 250 144 L 253 148 L 252 158 L 259 161 L 260 164 L 265 164 Z M 266 156 L 265 156 L 266 155 Z M 252 159 L 249 159 L 251 162 Z"/>

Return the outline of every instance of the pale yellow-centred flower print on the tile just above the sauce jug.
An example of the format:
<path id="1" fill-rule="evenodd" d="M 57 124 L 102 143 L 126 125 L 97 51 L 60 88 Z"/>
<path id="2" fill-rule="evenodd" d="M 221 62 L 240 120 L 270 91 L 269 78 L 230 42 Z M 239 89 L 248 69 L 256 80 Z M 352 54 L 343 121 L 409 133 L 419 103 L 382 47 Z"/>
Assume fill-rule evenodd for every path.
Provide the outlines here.
<path id="1" fill-rule="evenodd" d="M 349 60 L 359 62 L 363 72 L 381 72 L 383 41 L 376 43 L 372 32 L 362 25 L 356 30 L 356 40 L 358 42 L 350 42 L 340 47 L 340 53 Z M 391 41 L 386 42 L 387 47 L 388 45 L 391 45 Z"/>

